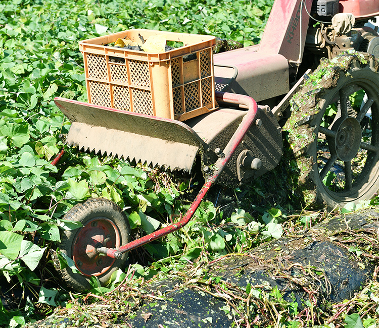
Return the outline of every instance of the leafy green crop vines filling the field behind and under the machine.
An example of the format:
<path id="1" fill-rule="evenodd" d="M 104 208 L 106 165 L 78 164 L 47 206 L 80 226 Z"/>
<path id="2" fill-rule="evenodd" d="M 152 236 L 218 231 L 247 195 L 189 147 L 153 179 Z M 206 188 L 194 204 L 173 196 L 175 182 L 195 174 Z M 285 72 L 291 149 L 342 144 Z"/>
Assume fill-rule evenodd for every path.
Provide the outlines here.
<path id="1" fill-rule="evenodd" d="M 238 0 L 222 7 L 215 0 L 0 3 L 0 272 L 8 282 L 39 295 L 42 304 L 59 304 L 60 292 L 48 283 L 54 274 L 46 262 L 51 247 L 60 241 L 60 231 L 80 226 L 63 218 L 79 201 L 89 197 L 115 201 L 138 235 L 167 225 L 185 210 L 180 195 L 188 185 L 175 186 L 148 168 L 75 149 L 67 149 L 57 167 L 51 165 L 63 147 L 59 135 L 70 126 L 54 97 L 86 101 L 78 41 L 148 28 L 213 34 L 251 45 L 259 41 L 272 3 Z M 182 257 L 188 259 L 204 253 L 204 245 L 213 255 L 224 253 L 228 244 L 241 251 L 260 229 L 248 213 L 243 216 L 246 221 L 239 224 L 222 221 L 213 204 L 205 203 L 191 229 L 147 249 L 161 258 L 180 254 L 184 247 Z M 226 228 L 219 227 L 221 222 Z M 61 260 L 70 265 L 69 259 Z M 27 322 L 34 307 L 30 300 L 22 304 L 27 305 L 15 310 L 0 307 L 1 324 L 16 327 Z"/>

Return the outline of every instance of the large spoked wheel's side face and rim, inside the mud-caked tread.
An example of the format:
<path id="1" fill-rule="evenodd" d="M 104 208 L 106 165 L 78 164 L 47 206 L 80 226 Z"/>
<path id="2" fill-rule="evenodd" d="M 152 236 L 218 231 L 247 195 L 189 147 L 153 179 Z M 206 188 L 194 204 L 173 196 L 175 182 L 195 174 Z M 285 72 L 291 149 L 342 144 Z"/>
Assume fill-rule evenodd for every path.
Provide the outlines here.
<path id="1" fill-rule="evenodd" d="M 308 154 L 319 198 L 329 206 L 372 198 L 379 188 L 379 74 L 370 65 L 340 72 L 317 105 Z"/>

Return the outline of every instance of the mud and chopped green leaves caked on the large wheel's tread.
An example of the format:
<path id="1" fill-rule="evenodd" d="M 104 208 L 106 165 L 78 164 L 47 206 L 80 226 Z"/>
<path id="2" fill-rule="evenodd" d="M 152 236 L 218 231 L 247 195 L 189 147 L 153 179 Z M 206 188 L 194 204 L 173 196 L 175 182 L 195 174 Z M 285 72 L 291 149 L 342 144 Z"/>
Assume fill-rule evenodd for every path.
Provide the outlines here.
<path id="1" fill-rule="evenodd" d="M 299 187 L 308 204 L 314 203 L 317 197 L 315 185 L 309 179 L 314 159 L 307 152 L 316 137 L 319 99 L 336 88 L 341 74 L 349 76 L 349 69 L 368 64 L 371 70 L 378 71 L 379 64 L 371 54 L 344 52 L 331 60 L 323 59 L 312 74 L 305 75 L 303 87 L 291 99 L 292 113 L 284 129 L 288 132 L 289 150 L 294 153 L 300 170 Z"/>

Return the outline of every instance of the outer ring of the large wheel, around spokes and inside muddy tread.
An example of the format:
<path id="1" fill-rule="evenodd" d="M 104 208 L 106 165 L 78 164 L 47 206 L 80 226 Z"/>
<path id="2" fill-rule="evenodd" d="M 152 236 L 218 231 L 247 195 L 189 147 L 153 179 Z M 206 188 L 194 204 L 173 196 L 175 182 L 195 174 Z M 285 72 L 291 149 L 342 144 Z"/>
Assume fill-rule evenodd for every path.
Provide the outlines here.
<path id="1" fill-rule="evenodd" d="M 361 67 L 357 61 L 353 62 L 352 67 L 350 67 L 345 74 L 340 73 L 336 87 L 324 90 L 316 104 L 320 109 L 319 114 L 312 120 L 312 125 L 315 124 L 316 126 L 316 137 L 309 146 L 306 154 L 307 156 L 313 157 L 313 167 L 309 173 L 309 178 L 316 187 L 317 200 L 324 203 L 328 208 L 334 208 L 337 205 L 343 207 L 348 202 L 358 203 L 360 200 L 369 200 L 376 195 L 379 189 L 379 151 L 373 154 L 371 152 L 371 158 L 367 156 L 367 161 L 369 161 L 368 166 L 370 166 L 370 168 L 366 168 L 366 166 L 365 168 L 370 170 L 361 178 L 358 184 L 355 183 L 355 187 L 353 185 L 351 191 L 333 192 L 329 190 L 322 182 L 317 165 L 317 136 L 325 110 L 329 103 L 334 102 L 332 99 L 339 93 L 339 90 L 351 84 L 358 84 L 366 91 L 369 98 L 375 100 L 371 106 L 371 144 L 379 147 L 379 73 L 376 71 L 377 64 L 375 65 L 373 63 L 374 62 L 369 61 L 366 66 Z M 376 68 L 374 66 L 376 66 Z M 363 181 L 367 177 L 367 181 Z"/>

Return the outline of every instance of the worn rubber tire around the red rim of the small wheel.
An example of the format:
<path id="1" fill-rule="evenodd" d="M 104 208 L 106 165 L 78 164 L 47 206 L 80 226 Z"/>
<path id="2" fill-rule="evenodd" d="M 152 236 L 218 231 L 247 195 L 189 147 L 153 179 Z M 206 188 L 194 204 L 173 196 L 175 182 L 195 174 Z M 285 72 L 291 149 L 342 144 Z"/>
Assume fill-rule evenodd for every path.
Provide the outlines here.
<path id="1" fill-rule="evenodd" d="M 116 203 L 105 198 L 90 198 L 84 203 L 76 204 L 65 214 L 63 220 L 79 221 L 84 226 L 86 222 L 96 217 L 105 217 L 117 227 L 120 237 L 120 245 L 118 246 L 130 242 L 131 233 L 128 218 Z M 75 229 L 73 231 L 64 231 L 61 234 L 61 243 L 59 245 L 60 251 L 70 258 L 73 258 L 73 243 L 81 229 L 83 228 Z M 106 272 L 103 272 L 98 276 L 102 286 L 109 282 L 113 272 L 118 268 L 121 268 L 126 259 L 127 253 L 124 253 L 121 259 L 116 259 Z M 58 268 L 58 274 L 68 288 L 76 292 L 82 292 L 92 288 L 89 283 L 89 277 L 82 274 L 76 274 L 69 267 L 60 269 L 59 261 L 57 262 L 57 259 L 55 259 L 55 266 Z"/>

